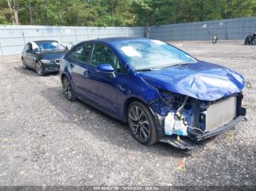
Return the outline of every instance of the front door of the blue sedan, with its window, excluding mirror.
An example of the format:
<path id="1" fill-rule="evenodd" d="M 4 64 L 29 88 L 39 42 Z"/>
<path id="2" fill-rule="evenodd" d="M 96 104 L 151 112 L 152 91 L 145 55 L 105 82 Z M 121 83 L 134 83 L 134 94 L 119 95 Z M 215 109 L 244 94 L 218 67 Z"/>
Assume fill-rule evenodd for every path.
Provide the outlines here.
<path id="1" fill-rule="evenodd" d="M 108 63 L 115 69 L 115 77 L 111 74 L 105 74 L 97 71 L 97 66 Z M 94 44 L 91 54 L 91 65 L 89 67 L 88 89 L 93 91 L 94 101 L 105 110 L 116 114 L 117 94 L 118 94 L 118 73 L 121 65 L 116 54 L 104 44 Z"/>

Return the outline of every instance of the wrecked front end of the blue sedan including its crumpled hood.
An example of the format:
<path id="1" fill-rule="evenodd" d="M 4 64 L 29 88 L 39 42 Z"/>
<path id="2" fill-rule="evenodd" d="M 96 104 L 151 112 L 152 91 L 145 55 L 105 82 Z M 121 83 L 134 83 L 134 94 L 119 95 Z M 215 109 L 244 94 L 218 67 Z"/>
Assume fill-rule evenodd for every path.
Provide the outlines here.
<path id="1" fill-rule="evenodd" d="M 159 140 L 181 149 L 232 128 L 244 119 L 245 80 L 231 69 L 204 61 L 140 73 L 156 91 L 148 106 Z"/>

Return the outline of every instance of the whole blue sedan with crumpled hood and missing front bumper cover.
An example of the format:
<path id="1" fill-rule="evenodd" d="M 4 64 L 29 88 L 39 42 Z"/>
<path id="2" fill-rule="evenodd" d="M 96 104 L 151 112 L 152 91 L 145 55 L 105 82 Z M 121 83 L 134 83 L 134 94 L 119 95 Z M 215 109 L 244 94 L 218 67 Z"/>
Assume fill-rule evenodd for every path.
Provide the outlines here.
<path id="1" fill-rule="evenodd" d="M 127 122 L 141 144 L 192 149 L 241 121 L 244 77 L 154 39 L 80 42 L 61 61 L 65 97 Z"/>

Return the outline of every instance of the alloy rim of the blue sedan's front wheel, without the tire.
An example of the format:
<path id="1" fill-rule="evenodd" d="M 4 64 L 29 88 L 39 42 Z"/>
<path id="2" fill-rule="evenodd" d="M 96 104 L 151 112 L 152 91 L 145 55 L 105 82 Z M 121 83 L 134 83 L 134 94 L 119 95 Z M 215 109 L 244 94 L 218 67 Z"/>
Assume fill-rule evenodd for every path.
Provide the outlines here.
<path id="1" fill-rule="evenodd" d="M 149 122 L 146 114 L 138 106 L 129 109 L 129 125 L 133 135 L 141 142 L 146 142 L 150 136 Z"/>

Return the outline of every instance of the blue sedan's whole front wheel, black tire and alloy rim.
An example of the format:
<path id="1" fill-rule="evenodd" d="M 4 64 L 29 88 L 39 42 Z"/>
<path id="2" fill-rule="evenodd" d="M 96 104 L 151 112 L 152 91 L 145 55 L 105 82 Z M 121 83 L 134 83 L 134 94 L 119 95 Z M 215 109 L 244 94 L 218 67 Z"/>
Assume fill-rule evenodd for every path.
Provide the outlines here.
<path id="1" fill-rule="evenodd" d="M 129 129 L 137 141 L 144 145 L 155 144 L 159 141 L 157 123 L 146 105 L 140 101 L 132 102 L 127 115 Z"/>

